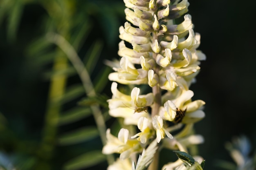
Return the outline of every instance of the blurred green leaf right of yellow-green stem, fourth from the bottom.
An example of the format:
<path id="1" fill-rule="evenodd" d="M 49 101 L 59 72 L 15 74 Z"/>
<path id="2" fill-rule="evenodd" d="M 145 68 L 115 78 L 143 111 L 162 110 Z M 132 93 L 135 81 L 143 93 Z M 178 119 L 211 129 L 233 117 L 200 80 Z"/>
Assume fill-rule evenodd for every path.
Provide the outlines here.
<path id="1" fill-rule="evenodd" d="M 85 94 L 85 90 L 81 84 L 72 85 L 67 88 L 66 93 L 61 96 L 58 101 L 62 104 L 72 101 Z"/>

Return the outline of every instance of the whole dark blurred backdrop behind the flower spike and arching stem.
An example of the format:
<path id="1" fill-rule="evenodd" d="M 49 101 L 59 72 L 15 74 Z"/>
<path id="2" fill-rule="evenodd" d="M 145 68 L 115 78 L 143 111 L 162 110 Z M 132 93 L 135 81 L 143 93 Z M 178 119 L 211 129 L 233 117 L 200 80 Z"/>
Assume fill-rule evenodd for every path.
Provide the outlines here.
<path id="1" fill-rule="evenodd" d="M 232 137 L 246 135 L 255 149 L 256 1 L 189 2 L 194 31 L 201 34 L 199 49 L 207 55 L 191 86 L 193 99 L 206 102 L 206 117 L 195 124 L 205 138 L 198 149 L 205 169 L 221 170 L 219 160 L 232 161 L 224 147 Z M 124 8 L 122 0 L 0 0 L 0 164 L 22 170 L 106 169 L 105 159 L 94 152 L 102 148 L 94 118 L 84 110 L 101 102 L 107 126 L 117 126 L 106 114 L 111 69 L 104 60 L 119 58 Z M 99 97 L 84 100 L 74 67 L 45 38 L 51 32 L 74 46 Z M 88 153 L 98 162 L 86 162 Z"/>

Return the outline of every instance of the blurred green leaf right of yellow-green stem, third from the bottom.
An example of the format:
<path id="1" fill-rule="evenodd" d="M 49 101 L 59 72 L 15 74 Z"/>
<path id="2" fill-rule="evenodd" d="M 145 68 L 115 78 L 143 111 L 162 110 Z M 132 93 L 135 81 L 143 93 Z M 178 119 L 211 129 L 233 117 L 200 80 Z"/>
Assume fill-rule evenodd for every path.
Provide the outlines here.
<path id="1" fill-rule="evenodd" d="M 85 117 L 92 115 L 92 110 L 90 108 L 85 107 L 75 107 L 62 115 L 60 115 L 58 124 L 65 125 L 70 124 L 74 121 L 81 120 Z"/>

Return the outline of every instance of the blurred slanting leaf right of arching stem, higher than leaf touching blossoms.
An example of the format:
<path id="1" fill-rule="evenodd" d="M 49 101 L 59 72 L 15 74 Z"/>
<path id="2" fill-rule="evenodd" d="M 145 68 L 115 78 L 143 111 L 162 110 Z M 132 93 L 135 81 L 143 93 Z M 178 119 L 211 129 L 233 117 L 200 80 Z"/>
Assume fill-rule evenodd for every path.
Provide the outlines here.
<path id="1" fill-rule="evenodd" d="M 103 48 L 102 40 L 96 40 L 91 46 L 88 52 L 85 55 L 85 68 L 87 69 L 88 73 L 91 73 L 92 70 L 95 68 L 99 60 L 100 53 Z"/>

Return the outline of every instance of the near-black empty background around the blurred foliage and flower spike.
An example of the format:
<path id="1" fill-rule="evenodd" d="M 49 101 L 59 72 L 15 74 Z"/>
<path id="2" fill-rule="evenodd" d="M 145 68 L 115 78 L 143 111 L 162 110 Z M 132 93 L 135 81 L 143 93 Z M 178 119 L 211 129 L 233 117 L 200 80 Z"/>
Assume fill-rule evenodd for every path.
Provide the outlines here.
<path id="1" fill-rule="evenodd" d="M 13 2 L 23 4 L 16 26 L 9 26 L 10 13 L 8 14 L 8 10 L 4 12 L 3 6 L 0 8 L 0 112 L 5 117 L 1 118 L 1 126 L 6 127 L 0 128 L 0 152 L 11 160 L 17 152 L 29 155 L 28 157 L 34 156 L 30 152 L 24 152 L 26 146 L 20 146 L 20 141 L 40 141 L 49 93 L 49 79 L 45 79 L 44 76 L 45 72 L 52 68 L 51 62 L 36 64 L 34 58 L 28 54 L 29 46 L 45 34 L 45 16 L 48 14 L 42 3 L 40 4 L 42 1 Z M 200 155 L 207 160 L 205 169 L 217 170 L 221 168 L 216 166 L 216 160 L 231 161 L 224 144 L 231 141 L 232 137 L 246 135 L 255 149 L 256 2 L 189 2 L 189 14 L 192 15 L 194 31 L 201 34 L 199 49 L 207 55 L 207 60 L 202 61 L 197 83 L 191 86 L 195 93 L 193 99 L 202 99 L 206 102 L 206 117 L 195 124 L 195 131 L 205 138 L 204 144 L 198 146 Z M 100 59 L 95 66 L 97 69 L 91 74 L 91 78 L 94 79 L 98 68 L 103 67 L 104 59 L 118 58 L 118 28 L 125 22 L 125 7 L 121 0 L 77 0 L 73 3 L 72 6 L 70 2 L 73 7 L 71 11 L 75 11 L 72 17 L 77 19 L 79 15 L 81 22 L 90 20 L 92 26 L 87 39 L 81 42 L 79 56 L 85 56 L 95 40 L 103 43 Z M 16 31 L 10 31 L 13 28 L 16 28 Z M 74 30 L 70 30 L 71 36 Z M 67 84 L 79 81 L 79 77 L 74 75 L 68 78 Z M 110 98 L 110 82 L 105 86 L 101 93 Z M 80 96 L 63 107 L 70 108 L 83 97 Z M 77 124 L 61 127 L 58 133 L 92 124 L 93 118 L 88 117 Z M 111 121 L 108 122 L 108 125 L 110 124 Z M 72 147 L 56 146 L 56 157 L 49 161 L 52 168 L 61 169 L 63 162 L 79 154 L 74 150 L 80 150 L 81 153 L 87 152 L 86 148 L 100 149 L 101 142 L 99 138 L 95 138 Z M 36 144 L 33 149 L 37 149 Z M 106 163 L 102 163 L 100 168 L 106 168 Z"/>

